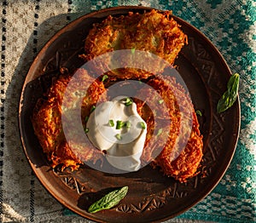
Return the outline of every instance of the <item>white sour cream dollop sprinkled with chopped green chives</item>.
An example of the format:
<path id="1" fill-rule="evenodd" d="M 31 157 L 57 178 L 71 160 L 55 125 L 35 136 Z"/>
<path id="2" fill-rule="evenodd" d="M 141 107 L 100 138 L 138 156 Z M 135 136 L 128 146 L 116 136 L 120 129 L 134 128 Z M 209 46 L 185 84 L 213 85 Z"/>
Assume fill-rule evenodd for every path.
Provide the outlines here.
<path id="1" fill-rule="evenodd" d="M 129 125 L 117 129 L 118 121 Z M 147 124 L 134 102 L 128 106 L 125 98 L 103 102 L 90 114 L 86 129 L 90 142 L 107 152 L 106 158 L 113 167 L 129 172 L 140 169 Z"/>

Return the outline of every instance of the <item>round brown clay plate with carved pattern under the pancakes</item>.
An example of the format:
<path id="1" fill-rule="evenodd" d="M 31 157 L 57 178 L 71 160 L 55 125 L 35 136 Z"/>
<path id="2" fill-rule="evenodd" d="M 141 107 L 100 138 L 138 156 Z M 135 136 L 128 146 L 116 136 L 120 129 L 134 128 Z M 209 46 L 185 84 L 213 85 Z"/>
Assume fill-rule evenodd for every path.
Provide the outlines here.
<path id="1" fill-rule="evenodd" d="M 201 174 L 187 183 L 163 176 L 158 169 L 146 166 L 135 173 L 106 174 L 95 169 L 62 174 L 53 172 L 37 137 L 30 117 L 39 97 L 49 88 L 61 66 L 73 69 L 81 61 L 84 38 L 95 22 L 109 14 L 143 13 L 143 7 L 118 7 L 86 14 L 58 31 L 33 61 L 20 97 L 20 133 L 26 157 L 44 187 L 60 203 L 90 220 L 101 222 L 152 222 L 170 219 L 198 203 L 218 184 L 230 164 L 236 148 L 240 127 L 240 106 L 221 115 L 216 112 L 219 97 L 225 90 L 230 69 L 212 43 L 189 23 L 178 19 L 189 37 L 189 45 L 176 60 L 178 71 L 187 84 L 199 117 L 204 140 Z M 113 209 L 96 214 L 86 211 L 89 205 L 106 192 L 119 186 L 129 186 L 125 199 Z"/>

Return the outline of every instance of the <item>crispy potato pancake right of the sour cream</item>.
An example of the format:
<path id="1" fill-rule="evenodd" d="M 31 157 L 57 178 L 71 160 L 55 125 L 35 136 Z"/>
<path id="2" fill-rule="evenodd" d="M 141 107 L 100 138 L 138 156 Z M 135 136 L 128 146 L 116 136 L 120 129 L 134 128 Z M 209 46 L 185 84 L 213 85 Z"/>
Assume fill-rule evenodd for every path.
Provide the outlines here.
<path id="1" fill-rule="evenodd" d="M 148 126 L 142 159 L 152 161 L 167 176 L 185 182 L 197 174 L 203 155 L 194 106 L 174 77 L 154 77 L 148 85 L 153 89 L 141 89 L 139 93 L 147 95 L 148 100 L 136 100 L 137 111 Z M 155 100 L 154 90 L 162 100 Z"/>

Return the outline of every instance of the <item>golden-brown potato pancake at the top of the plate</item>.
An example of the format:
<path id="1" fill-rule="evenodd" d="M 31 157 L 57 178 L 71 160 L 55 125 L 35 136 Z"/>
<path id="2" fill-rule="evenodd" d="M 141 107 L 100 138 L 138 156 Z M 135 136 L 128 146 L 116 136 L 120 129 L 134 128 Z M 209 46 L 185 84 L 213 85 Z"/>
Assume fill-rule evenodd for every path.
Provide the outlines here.
<path id="1" fill-rule="evenodd" d="M 170 11 L 152 10 L 144 14 L 131 12 L 119 17 L 108 16 L 90 30 L 85 39 L 85 54 L 82 57 L 92 60 L 101 54 L 119 49 L 131 49 L 131 52 L 143 50 L 165 60 L 166 65 L 173 65 L 177 54 L 187 43 L 187 36 L 171 14 Z M 152 71 L 160 72 L 165 68 L 161 60 L 156 58 L 154 62 L 148 63 L 146 54 L 139 54 L 136 58 L 130 58 L 127 54 L 118 54 L 117 58 L 106 57 L 102 70 L 112 70 L 108 71 L 108 76 L 113 79 L 146 79 L 153 75 Z M 148 55 L 152 59 L 150 57 Z M 128 63 L 127 60 L 131 61 Z M 132 66 L 128 68 L 125 64 Z M 99 67 L 101 66 L 97 64 L 95 69 L 100 69 Z"/>

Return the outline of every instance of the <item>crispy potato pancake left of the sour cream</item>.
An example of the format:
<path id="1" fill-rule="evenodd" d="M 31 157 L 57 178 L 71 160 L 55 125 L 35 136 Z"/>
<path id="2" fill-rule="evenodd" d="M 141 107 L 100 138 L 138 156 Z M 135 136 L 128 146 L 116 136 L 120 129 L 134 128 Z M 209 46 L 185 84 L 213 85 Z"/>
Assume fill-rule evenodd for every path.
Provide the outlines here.
<path id="1" fill-rule="evenodd" d="M 102 82 L 98 80 L 94 81 L 94 78 L 90 77 L 84 69 L 77 70 L 76 77 L 79 79 L 79 82 L 73 84 L 73 89 L 66 94 L 65 90 L 72 76 L 61 76 L 55 79 L 45 95 L 47 100 L 39 99 L 32 115 L 34 132 L 38 136 L 39 143 L 43 147 L 44 153 L 47 154 L 51 166 L 55 168 L 57 165 L 61 165 L 62 170 L 67 167 L 78 169 L 82 161 L 92 161 L 95 163 L 97 160 L 102 159 L 102 152 L 92 148 L 91 145 L 83 149 L 81 156 L 77 156 L 68 146 L 63 133 L 61 106 L 64 94 L 68 97 L 67 101 L 70 101 L 66 106 L 71 109 L 76 104 L 76 100 L 79 100 L 75 92 L 91 83 L 82 100 L 81 113 L 83 125 L 85 126 L 85 117 L 90 115 L 91 107 L 96 105 L 96 102 L 104 95 L 106 90 Z M 73 117 L 66 118 L 72 119 Z M 72 122 L 73 120 L 70 120 L 70 123 Z M 73 143 L 75 143 L 76 139 L 73 140 Z"/>

